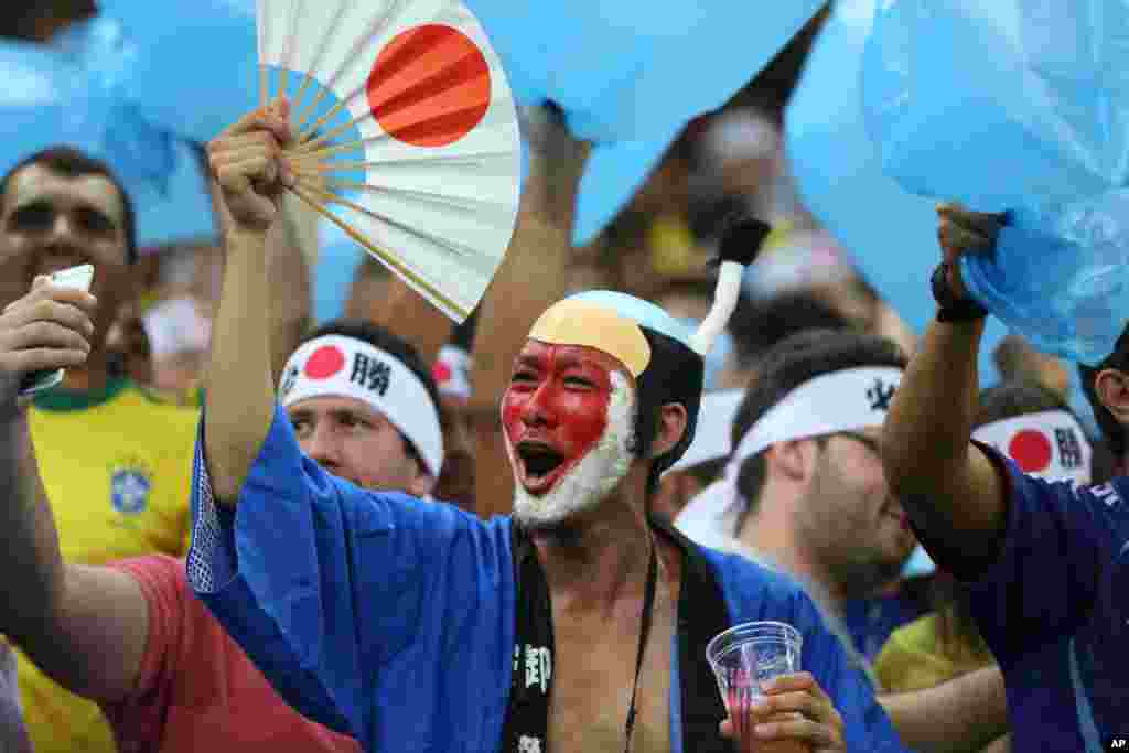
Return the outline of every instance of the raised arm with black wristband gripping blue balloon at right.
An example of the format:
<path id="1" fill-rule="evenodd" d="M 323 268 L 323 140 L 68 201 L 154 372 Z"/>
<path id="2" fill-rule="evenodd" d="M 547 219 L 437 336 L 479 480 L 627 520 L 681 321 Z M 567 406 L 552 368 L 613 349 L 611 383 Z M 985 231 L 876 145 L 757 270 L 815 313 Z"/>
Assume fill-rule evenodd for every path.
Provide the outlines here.
<path id="1" fill-rule="evenodd" d="M 957 295 L 963 287 L 956 257 L 994 244 L 992 222 L 989 216 L 940 210 Z M 886 478 L 930 553 L 969 580 L 996 560 L 1007 511 L 1004 478 L 970 443 L 983 327 L 983 319 L 929 325 L 886 417 L 882 448 Z"/>

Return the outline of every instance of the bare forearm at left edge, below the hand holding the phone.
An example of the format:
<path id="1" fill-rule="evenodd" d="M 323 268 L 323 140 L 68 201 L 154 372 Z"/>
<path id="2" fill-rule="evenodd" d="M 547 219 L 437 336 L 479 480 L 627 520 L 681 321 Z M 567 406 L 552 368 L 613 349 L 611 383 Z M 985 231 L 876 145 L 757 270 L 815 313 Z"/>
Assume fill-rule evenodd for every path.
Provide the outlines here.
<path id="1" fill-rule="evenodd" d="M 45 632 L 61 601 L 59 536 L 40 480 L 27 417 L 8 412 L 0 423 L 0 632 L 23 643 Z"/>

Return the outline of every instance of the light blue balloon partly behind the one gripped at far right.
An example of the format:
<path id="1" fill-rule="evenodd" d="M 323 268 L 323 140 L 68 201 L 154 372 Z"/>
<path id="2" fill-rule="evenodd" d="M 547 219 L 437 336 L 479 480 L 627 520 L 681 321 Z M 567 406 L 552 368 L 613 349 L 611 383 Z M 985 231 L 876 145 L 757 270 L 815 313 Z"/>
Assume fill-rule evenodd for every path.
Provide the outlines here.
<path id="1" fill-rule="evenodd" d="M 882 170 L 864 123 L 859 80 L 876 0 L 841 0 L 820 32 L 785 113 L 789 168 L 806 207 L 918 334 L 936 312 L 929 279 L 942 252 L 935 203 Z M 989 319 L 980 378 L 999 379 L 991 351 L 1006 334 Z"/>

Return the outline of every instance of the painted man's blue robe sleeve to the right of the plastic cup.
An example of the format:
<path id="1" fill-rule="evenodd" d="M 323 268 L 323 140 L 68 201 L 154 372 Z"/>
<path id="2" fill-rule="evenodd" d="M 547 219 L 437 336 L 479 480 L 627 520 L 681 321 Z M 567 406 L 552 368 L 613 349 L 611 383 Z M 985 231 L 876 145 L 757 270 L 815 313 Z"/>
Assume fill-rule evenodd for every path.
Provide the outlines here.
<path id="1" fill-rule="evenodd" d="M 851 753 L 904 753 L 898 732 L 875 698 L 874 686 L 828 628 L 814 602 L 797 592 L 791 624 L 804 636 L 800 650 L 805 669 L 831 698 L 843 719 L 847 750 Z"/>

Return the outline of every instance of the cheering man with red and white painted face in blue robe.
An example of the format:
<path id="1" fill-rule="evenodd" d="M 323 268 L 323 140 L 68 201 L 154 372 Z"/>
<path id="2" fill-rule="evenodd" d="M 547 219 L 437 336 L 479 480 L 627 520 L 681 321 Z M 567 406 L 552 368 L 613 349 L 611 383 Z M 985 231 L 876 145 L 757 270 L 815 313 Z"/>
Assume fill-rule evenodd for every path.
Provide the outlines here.
<path id="1" fill-rule="evenodd" d="M 648 523 L 724 316 L 692 335 L 609 292 L 545 312 L 501 403 L 513 517 L 366 491 L 303 455 L 274 401 L 263 314 L 263 236 L 291 180 L 277 107 L 210 146 L 235 226 L 187 569 L 283 698 L 369 751 L 732 751 L 706 643 L 774 620 L 802 633 L 806 672 L 741 719 L 756 726 L 743 743 L 900 750 L 797 586 Z M 737 243 L 755 248 L 767 228 L 751 227 Z M 723 265 L 733 292 L 739 271 Z"/>

